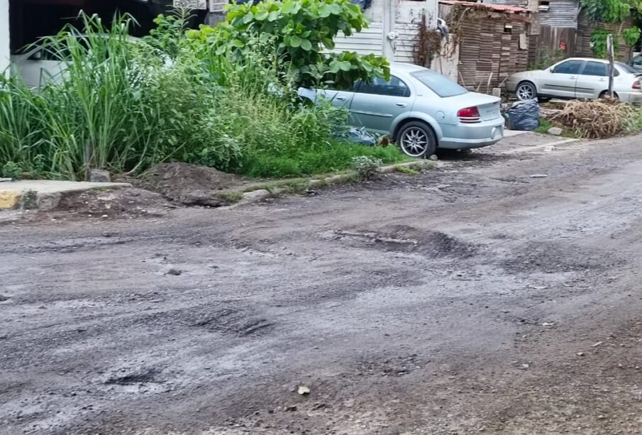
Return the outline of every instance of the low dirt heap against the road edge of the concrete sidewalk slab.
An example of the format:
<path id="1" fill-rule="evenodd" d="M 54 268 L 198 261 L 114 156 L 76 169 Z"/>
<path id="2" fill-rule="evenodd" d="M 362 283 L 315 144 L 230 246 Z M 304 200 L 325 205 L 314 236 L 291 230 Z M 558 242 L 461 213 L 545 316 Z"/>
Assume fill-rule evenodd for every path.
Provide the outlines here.
<path id="1" fill-rule="evenodd" d="M 130 219 L 167 214 L 167 200 L 143 189 L 109 189 L 70 192 L 60 199 L 53 214 L 98 219 Z"/>

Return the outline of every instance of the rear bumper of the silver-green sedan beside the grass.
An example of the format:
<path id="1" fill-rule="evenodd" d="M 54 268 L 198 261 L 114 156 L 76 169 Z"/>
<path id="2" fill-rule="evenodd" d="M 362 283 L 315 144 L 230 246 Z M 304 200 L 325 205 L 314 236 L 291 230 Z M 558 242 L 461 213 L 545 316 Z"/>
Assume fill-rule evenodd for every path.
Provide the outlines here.
<path id="1" fill-rule="evenodd" d="M 504 119 L 485 121 L 478 124 L 459 124 L 443 128 L 444 136 L 439 140 L 439 148 L 466 150 L 492 145 L 504 138 Z M 448 134 L 448 136 L 445 136 Z"/>

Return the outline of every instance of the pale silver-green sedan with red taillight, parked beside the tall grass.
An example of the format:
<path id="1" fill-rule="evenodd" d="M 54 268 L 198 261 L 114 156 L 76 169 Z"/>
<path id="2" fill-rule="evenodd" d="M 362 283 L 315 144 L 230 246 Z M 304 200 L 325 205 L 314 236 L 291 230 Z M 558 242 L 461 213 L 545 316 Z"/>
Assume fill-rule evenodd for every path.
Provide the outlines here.
<path id="1" fill-rule="evenodd" d="M 341 91 L 300 89 L 299 95 L 345 107 L 351 125 L 389 136 L 411 157 L 428 157 L 437 148 L 480 148 L 504 137 L 499 98 L 468 92 L 416 65 L 393 63 L 390 72 L 389 82 L 358 82 Z"/>

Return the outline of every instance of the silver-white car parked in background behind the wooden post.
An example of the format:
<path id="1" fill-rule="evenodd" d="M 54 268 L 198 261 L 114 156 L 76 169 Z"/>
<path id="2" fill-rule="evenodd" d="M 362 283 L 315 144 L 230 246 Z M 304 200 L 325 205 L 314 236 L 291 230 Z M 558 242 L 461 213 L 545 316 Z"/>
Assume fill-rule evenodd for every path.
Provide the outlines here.
<path id="1" fill-rule="evenodd" d="M 642 103 L 642 72 L 623 62 L 615 62 L 613 92 L 620 101 Z M 574 57 L 546 70 L 518 72 L 506 81 L 506 89 L 525 101 L 604 98 L 609 89 L 609 62 L 602 59 Z"/>

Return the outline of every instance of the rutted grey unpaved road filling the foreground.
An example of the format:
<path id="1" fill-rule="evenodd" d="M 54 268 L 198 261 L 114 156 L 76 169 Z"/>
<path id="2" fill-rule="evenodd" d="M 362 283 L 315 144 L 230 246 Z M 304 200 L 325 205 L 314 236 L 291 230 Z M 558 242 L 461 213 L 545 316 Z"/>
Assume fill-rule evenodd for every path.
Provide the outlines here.
<path id="1" fill-rule="evenodd" d="M 640 143 L 1 226 L 0 433 L 642 433 Z"/>

